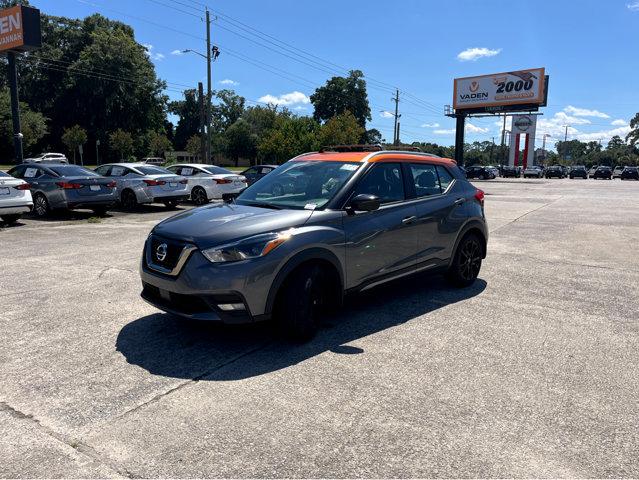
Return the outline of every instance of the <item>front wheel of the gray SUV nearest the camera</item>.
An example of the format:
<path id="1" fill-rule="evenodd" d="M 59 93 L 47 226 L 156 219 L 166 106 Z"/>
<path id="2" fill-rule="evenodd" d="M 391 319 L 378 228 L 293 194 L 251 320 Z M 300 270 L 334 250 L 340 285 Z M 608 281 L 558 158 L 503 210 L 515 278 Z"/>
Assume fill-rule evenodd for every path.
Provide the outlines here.
<path id="1" fill-rule="evenodd" d="M 326 275 L 319 265 L 302 266 L 286 280 L 275 318 L 281 332 L 296 342 L 313 338 L 327 305 Z"/>

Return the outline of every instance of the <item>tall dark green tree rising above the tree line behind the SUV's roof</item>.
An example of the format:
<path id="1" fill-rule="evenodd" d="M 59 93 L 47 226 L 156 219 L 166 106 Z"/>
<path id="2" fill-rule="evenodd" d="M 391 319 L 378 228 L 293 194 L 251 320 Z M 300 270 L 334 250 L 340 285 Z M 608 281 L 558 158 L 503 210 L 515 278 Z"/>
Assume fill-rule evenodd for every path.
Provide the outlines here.
<path id="1" fill-rule="evenodd" d="M 318 122 L 326 122 L 346 111 L 351 112 L 362 128 L 366 126 L 367 120 L 371 120 L 366 81 L 360 70 L 351 70 L 348 77 L 333 77 L 328 80 L 326 85 L 319 87 L 311 95 L 311 103 L 315 107 L 313 117 Z M 355 143 L 359 141 L 360 138 Z"/>

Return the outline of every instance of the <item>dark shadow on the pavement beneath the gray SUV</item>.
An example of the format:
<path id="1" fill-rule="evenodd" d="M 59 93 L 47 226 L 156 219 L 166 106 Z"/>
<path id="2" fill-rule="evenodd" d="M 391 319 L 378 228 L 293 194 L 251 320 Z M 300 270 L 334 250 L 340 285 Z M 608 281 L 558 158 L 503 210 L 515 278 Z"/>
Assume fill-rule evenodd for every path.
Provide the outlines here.
<path id="1" fill-rule="evenodd" d="M 304 344 L 282 340 L 270 322 L 226 326 L 154 314 L 120 331 L 116 349 L 128 363 L 153 375 L 173 378 L 240 380 L 295 365 L 326 351 L 365 354 L 347 345 L 481 294 L 484 280 L 452 289 L 440 277 L 416 276 L 347 300 L 317 336 Z"/>

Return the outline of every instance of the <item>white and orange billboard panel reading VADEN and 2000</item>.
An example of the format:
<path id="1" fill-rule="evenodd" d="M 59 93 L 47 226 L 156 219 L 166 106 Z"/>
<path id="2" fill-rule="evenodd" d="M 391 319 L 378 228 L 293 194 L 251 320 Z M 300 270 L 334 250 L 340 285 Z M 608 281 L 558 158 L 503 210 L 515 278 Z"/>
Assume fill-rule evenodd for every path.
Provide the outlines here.
<path id="1" fill-rule="evenodd" d="M 545 102 L 544 68 L 456 78 L 455 110 L 513 110 L 517 106 L 536 106 Z"/>

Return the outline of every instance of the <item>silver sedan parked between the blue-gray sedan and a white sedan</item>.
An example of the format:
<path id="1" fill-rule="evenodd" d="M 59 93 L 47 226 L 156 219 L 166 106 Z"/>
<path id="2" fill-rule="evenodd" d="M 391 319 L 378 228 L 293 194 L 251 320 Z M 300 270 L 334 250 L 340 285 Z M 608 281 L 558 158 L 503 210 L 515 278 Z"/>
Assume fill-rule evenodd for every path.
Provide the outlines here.
<path id="1" fill-rule="evenodd" d="M 163 203 L 173 208 L 190 195 L 186 178 L 155 165 L 110 163 L 95 171 L 116 182 L 118 200 L 125 210 L 135 210 L 143 203 Z"/>

